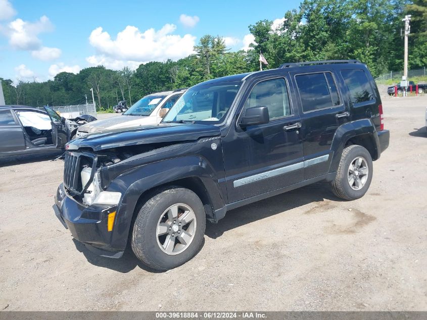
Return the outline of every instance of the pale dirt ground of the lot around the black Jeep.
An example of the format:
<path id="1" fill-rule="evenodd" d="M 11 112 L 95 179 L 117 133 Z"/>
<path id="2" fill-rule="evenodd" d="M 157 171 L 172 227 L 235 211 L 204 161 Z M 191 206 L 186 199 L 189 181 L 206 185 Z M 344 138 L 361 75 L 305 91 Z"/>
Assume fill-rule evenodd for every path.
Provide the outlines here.
<path id="1" fill-rule="evenodd" d="M 62 161 L 0 163 L 0 310 L 427 310 L 427 97 L 383 104 L 362 199 L 316 184 L 232 210 L 164 273 L 73 241 L 52 210 Z"/>

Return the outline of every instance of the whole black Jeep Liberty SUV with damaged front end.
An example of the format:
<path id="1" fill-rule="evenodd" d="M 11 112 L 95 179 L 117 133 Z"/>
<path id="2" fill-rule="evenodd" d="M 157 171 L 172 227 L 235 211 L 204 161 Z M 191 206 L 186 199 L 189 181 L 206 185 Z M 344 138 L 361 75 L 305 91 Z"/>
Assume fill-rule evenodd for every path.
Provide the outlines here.
<path id="1" fill-rule="evenodd" d="M 66 146 L 54 210 L 101 256 L 128 243 L 167 270 L 200 249 L 206 220 L 317 181 L 354 200 L 389 145 L 375 82 L 359 61 L 289 63 L 189 88 L 158 125 Z"/>

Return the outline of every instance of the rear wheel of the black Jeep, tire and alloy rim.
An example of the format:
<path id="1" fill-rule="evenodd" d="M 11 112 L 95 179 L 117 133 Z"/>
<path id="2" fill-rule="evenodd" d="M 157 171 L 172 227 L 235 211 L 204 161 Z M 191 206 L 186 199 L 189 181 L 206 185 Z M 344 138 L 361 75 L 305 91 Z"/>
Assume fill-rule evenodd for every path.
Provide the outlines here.
<path id="1" fill-rule="evenodd" d="M 332 182 L 332 191 L 344 200 L 359 199 L 368 191 L 372 173 L 372 158 L 366 148 L 358 145 L 346 147 Z"/>

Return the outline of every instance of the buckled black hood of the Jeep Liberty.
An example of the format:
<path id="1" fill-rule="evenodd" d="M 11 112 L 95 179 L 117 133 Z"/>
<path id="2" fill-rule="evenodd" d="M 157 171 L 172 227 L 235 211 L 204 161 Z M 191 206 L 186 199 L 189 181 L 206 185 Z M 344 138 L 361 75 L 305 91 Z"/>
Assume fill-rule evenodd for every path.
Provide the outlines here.
<path id="1" fill-rule="evenodd" d="M 67 150 L 91 148 L 93 151 L 165 142 L 195 141 L 220 135 L 219 127 L 195 123 L 161 123 L 133 130 L 113 129 L 88 134 L 68 143 Z"/>

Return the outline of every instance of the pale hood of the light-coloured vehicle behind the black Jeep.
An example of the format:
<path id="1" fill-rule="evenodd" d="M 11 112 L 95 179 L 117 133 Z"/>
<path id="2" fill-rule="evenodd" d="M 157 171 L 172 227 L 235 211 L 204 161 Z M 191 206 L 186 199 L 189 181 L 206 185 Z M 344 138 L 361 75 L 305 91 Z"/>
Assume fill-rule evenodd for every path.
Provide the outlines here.
<path id="1" fill-rule="evenodd" d="M 157 117 L 121 115 L 107 119 L 92 121 L 79 127 L 79 132 L 92 133 L 105 129 L 129 128 L 139 125 L 157 124 Z"/>

